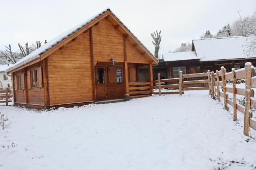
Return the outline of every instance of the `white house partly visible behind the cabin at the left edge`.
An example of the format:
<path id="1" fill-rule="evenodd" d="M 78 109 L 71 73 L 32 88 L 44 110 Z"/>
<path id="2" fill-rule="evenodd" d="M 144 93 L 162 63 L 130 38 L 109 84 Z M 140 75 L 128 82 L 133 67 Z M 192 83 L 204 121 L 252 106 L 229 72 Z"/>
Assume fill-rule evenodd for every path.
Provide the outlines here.
<path id="1" fill-rule="evenodd" d="M 12 87 L 12 77 L 6 72 L 9 65 L 10 64 L 0 65 L 0 89 Z"/>

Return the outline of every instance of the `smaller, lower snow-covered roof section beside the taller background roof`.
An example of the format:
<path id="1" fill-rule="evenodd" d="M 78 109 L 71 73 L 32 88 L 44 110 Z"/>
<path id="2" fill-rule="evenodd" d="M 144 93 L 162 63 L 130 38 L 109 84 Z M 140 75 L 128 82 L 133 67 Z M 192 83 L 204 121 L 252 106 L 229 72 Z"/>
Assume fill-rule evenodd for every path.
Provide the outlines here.
<path id="1" fill-rule="evenodd" d="M 180 61 L 180 60 L 195 60 L 199 59 L 195 52 L 177 52 L 163 54 L 164 61 Z"/>

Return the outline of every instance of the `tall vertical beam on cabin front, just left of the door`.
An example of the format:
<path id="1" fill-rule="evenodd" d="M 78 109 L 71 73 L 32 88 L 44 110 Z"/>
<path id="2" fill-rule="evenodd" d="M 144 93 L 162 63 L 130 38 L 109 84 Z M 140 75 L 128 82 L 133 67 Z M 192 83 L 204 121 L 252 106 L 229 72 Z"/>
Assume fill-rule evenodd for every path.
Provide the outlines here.
<path id="1" fill-rule="evenodd" d="M 93 84 L 93 99 L 96 97 L 96 83 L 95 83 L 95 68 L 94 68 L 94 50 L 93 50 L 93 27 L 90 28 L 90 48 L 91 48 L 91 67 L 92 67 L 92 84 Z"/>

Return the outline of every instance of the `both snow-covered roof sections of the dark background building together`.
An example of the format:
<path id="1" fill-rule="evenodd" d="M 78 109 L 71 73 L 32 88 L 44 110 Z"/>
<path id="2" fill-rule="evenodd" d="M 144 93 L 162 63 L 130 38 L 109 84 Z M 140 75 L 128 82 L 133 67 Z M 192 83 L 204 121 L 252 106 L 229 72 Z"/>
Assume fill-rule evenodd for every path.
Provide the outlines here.
<path id="1" fill-rule="evenodd" d="M 193 40 L 195 51 L 163 54 L 164 61 L 181 61 L 200 59 L 200 61 L 217 61 L 231 59 L 256 58 L 245 54 L 248 39 L 251 36 L 203 38 Z"/>

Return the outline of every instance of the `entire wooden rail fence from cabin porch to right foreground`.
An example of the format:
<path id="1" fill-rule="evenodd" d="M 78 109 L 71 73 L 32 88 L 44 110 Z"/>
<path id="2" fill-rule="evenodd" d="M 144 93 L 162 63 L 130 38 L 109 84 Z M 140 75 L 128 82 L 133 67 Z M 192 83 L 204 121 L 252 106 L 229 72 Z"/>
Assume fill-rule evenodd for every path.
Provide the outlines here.
<path id="1" fill-rule="evenodd" d="M 204 72 L 198 74 L 183 75 L 180 71 L 179 78 L 160 79 L 154 81 L 154 89 L 158 89 L 154 94 L 180 94 L 182 95 L 186 90 L 209 90 L 212 99 L 221 98 L 224 101 L 224 108 L 228 109 L 228 105 L 233 107 L 233 120 L 237 120 L 237 110 L 244 114 L 244 134 L 249 136 L 249 128 L 256 130 L 256 122 L 251 119 L 251 108 L 256 109 L 256 99 L 253 98 L 254 90 L 256 88 L 256 72 L 251 63 L 246 63 L 245 68 L 226 72 L 224 67 L 216 72 Z M 198 80 L 191 80 L 197 78 Z M 245 79 L 245 88 L 237 87 L 237 80 Z M 232 86 L 227 86 L 227 81 L 232 81 Z M 197 85 L 196 87 L 189 87 L 190 85 Z M 228 84 L 229 85 L 229 84 Z M 174 89 L 177 91 L 162 91 L 162 89 Z M 227 93 L 232 93 L 233 100 L 228 98 Z M 245 96 L 245 106 L 237 103 L 237 94 Z"/>

